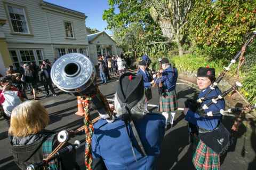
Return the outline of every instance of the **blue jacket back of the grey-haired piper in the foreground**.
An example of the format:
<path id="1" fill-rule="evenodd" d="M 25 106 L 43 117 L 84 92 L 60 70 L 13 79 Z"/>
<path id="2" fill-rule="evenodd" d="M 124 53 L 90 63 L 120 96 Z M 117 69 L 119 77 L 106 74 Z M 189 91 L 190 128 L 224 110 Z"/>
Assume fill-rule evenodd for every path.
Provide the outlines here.
<path id="1" fill-rule="evenodd" d="M 94 124 L 92 136 L 93 158 L 102 158 L 107 169 L 115 170 L 150 170 L 155 169 L 156 158 L 160 153 L 165 133 L 165 118 L 160 114 L 148 114 L 134 120 L 142 145 L 147 156 L 142 157 L 137 141 L 131 133 L 133 149 L 138 161 L 133 157 L 129 136 L 124 121 L 117 118 L 113 123 L 100 119 Z M 103 125 L 103 126 L 102 126 Z"/>

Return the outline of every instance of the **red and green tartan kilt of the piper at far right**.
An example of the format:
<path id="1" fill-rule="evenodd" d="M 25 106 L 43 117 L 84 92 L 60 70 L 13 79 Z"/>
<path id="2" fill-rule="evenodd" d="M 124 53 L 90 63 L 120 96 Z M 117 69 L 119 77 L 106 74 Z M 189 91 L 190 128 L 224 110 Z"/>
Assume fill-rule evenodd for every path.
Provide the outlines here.
<path id="1" fill-rule="evenodd" d="M 197 144 L 193 153 L 193 164 L 197 170 L 219 170 L 220 155 L 207 147 L 202 140 L 194 140 Z"/>

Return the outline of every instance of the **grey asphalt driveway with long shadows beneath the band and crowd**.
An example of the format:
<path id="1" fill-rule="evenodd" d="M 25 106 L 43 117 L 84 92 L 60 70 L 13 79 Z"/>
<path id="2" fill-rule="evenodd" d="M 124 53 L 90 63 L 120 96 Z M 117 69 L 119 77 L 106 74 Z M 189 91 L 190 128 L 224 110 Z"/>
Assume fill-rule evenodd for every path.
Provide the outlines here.
<path id="1" fill-rule="evenodd" d="M 113 99 L 117 78 L 112 78 L 105 85 L 100 85 L 100 91 L 108 98 Z M 183 82 L 178 82 L 177 93 L 179 107 L 183 107 L 183 103 L 187 98 L 196 96 L 196 89 L 189 87 Z M 58 96 L 44 98 L 44 93 L 39 94 L 41 102 L 49 111 L 51 123 L 47 129 L 61 131 L 62 129 L 76 129 L 83 125 L 83 117 L 76 116 L 77 111 L 76 97 L 56 90 Z M 150 104 L 158 104 L 159 96 L 157 89 L 153 89 L 153 99 Z M 149 110 L 157 111 L 156 108 L 149 107 Z M 96 117 L 95 111 L 91 111 L 92 117 Z M 228 129 L 231 127 L 232 121 L 230 118 L 224 118 L 223 123 Z M 0 169 L 14 170 L 19 169 L 10 152 L 9 139 L 7 137 L 7 124 L 0 118 Z M 84 135 L 76 136 L 74 140 L 83 140 Z M 84 142 L 77 151 L 78 164 L 83 167 L 84 157 Z M 245 126 L 239 128 L 239 132 L 235 134 L 234 142 L 231 145 L 228 153 L 221 158 L 222 170 L 255 170 L 256 169 L 256 130 L 255 126 L 252 129 L 246 129 Z M 188 143 L 187 122 L 183 119 L 180 112 L 175 115 L 174 127 L 167 129 L 162 145 L 161 155 L 157 161 L 157 169 L 194 169 L 191 163 L 191 147 Z"/>

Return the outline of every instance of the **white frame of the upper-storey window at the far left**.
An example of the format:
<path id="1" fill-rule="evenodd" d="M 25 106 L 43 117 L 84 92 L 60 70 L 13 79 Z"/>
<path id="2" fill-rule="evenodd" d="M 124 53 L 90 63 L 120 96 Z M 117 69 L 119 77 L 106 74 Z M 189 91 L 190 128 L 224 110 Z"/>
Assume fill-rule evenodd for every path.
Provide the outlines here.
<path id="1" fill-rule="evenodd" d="M 22 12 L 23 12 L 23 15 L 24 15 L 24 18 L 25 18 L 25 21 L 23 21 L 23 22 L 26 22 L 26 27 L 27 27 L 28 33 L 22 33 L 22 32 L 14 31 L 13 25 L 12 25 L 12 19 L 11 19 L 10 11 L 9 11 L 9 6 L 12 7 L 12 8 L 16 8 L 16 9 L 22 9 Z M 20 35 L 31 35 L 31 29 L 30 29 L 30 25 L 29 25 L 29 21 L 28 21 L 28 17 L 27 17 L 26 7 L 6 3 L 5 4 L 5 10 L 6 10 L 6 14 L 8 16 L 9 25 L 10 25 L 12 33 L 20 34 Z"/>

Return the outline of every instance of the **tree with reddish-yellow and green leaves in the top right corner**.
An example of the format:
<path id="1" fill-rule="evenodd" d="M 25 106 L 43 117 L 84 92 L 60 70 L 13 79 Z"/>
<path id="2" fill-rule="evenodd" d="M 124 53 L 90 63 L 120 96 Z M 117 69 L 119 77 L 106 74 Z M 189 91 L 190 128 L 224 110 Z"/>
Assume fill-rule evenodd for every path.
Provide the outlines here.
<path id="1" fill-rule="evenodd" d="M 214 58 L 230 59 L 256 26 L 255 0 L 196 0 L 189 14 L 191 41 Z"/>

